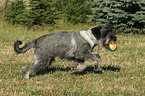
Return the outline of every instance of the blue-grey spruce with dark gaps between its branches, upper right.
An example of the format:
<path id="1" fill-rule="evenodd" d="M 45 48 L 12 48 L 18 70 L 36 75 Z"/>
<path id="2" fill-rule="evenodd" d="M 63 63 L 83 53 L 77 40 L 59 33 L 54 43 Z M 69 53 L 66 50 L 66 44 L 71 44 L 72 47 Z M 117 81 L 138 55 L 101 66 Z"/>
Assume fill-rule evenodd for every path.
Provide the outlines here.
<path id="1" fill-rule="evenodd" d="M 141 0 L 142 1 L 142 0 Z M 90 20 L 96 23 L 113 23 L 123 27 L 125 33 L 145 33 L 145 2 L 133 0 L 94 0 Z"/>

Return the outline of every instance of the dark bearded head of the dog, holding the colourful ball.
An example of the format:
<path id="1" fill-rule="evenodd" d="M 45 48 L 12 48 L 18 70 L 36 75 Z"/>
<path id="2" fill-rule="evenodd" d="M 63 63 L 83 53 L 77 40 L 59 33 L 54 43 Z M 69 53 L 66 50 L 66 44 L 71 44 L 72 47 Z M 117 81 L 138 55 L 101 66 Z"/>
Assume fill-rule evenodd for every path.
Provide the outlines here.
<path id="1" fill-rule="evenodd" d="M 117 43 L 117 37 L 113 34 L 114 28 L 112 24 L 96 26 L 91 30 L 92 34 L 101 42 L 101 47 L 108 49 L 110 43 Z"/>

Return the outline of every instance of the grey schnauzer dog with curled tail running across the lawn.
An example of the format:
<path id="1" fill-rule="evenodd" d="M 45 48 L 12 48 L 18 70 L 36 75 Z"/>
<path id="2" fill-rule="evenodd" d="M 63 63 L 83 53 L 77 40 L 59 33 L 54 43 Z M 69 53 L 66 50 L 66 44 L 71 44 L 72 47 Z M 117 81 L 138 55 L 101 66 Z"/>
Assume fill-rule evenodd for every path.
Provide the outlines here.
<path id="1" fill-rule="evenodd" d="M 99 45 L 105 51 L 109 42 L 116 42 L 113 31 L 111 24 L 105 24 L 84 31 L 47 34 L 26 43 L 22 48 L 19 48 L 22 42 L 16 41 L 14 50 L 17 54 L 34 48 L 34 64 L 22 68 L 23 78 L 29 79 L 33 73 L 46 70 L 55 57 L 76 61 L 77 66 L 71 68 L 70 73 L 83 72 L 86 68 L 84 62 L 89 59 L 94 61 L 94 70 L 98 71 L 101 68 L 100 56 L 92 50 Z"/>

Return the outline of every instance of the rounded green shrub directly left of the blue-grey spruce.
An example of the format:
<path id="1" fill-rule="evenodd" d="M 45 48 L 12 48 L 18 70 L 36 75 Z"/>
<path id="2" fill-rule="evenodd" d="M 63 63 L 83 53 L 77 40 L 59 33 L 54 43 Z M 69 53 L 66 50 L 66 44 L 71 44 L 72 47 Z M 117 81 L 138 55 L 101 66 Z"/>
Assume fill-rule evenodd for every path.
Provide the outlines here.
<path id="1" fill-rule="evenodd" d="M 61 11 L 67 21 L 77 24 L 88 21 L 87 14 L 91 14 L 90 0 L 63 0 Z"/>

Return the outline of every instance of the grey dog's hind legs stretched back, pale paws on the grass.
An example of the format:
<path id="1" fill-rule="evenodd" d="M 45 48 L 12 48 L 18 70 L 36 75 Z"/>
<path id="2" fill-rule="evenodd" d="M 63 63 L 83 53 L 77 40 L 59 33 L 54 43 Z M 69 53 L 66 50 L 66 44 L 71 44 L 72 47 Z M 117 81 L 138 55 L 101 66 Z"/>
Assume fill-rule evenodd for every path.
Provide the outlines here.
<path id="1" fill-rule="evenodd" d="M 45 72 L 51 65 L 52 61 L 54 61 L 54 58 L 52 57 L 49 57 L 47 59 L 39 59 L 37 61 L 34 61 L 33 65 L 23 67 L 23 78 L 29 79 L 30 75 L 32 75 L 33 73 L 39 74 Z"/>

